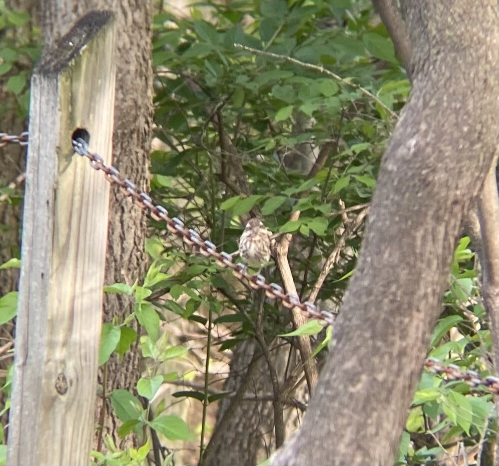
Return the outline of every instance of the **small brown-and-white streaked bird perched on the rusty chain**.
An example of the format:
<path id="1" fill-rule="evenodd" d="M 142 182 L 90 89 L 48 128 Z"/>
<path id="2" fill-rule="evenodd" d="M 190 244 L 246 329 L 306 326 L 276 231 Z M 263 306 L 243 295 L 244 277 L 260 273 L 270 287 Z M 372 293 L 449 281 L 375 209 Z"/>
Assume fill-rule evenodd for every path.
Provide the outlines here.
<path id="1" fill-rule="evenodd" d="M 270 259 L 270 237 L 272 233 L 265 228 L 259 218 L 252 218 L 239 238 L 239 255 L 248 265 L 262 267 Z"/>

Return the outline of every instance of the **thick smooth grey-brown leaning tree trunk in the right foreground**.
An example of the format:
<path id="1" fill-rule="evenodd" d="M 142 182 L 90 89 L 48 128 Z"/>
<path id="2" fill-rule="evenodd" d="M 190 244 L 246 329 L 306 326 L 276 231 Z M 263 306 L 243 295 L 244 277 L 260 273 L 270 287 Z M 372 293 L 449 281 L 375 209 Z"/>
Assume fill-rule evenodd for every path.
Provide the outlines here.
<path id="1" fill-rule="evenodd" d="M 301 431 L 272 464 L 391 464 L 464 215 L 496 160 L 495 0 L 402 0 L 413 91 Z"/>

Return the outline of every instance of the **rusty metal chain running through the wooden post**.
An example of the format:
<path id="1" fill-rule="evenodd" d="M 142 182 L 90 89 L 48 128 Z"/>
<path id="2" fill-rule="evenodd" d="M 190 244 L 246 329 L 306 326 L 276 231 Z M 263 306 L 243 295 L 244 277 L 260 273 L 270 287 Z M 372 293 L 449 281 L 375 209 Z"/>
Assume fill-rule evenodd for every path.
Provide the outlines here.
<path id="1" fill-rule="evenodd" d="M 19 136 L 0 133 L 0 148 L 7 144 L 20 144 L 26 146 L 28 144 L 28 132 L 21 133 Z M 146 211 L 149 216 L 155 220 L 164 220 L 167 224 L 168 231 L 180 238 L 188 246 L 197 249 L 199 254 L 205 257 L 215 259 L 216 263 L 222 268 L 232 269 L 234 275 L 242 280 L 245 279 L 253 289 L 263 289 L 265 294 L 271 299 L 277 299 L 282 302 L 284 307 L 292 309 L 298 307 L 308 317 L 322 320 L 326 325 L 334 323 L 334 315 L 326 310 L 320 310 L 315 304 L 305 301 L 301 302 L 297 295 L 286 293 L 284 289 L 276 284 L 268 284 L 263 275 L 257 273 L 250 275 L 246 265 L 235 263 L 232 255 L 227 252 L 218 252 L 215 244 L 211 241 L 201 238 L 201 235 L 195 230 L 188 229 L 184 223 L 174 217 L 168 216 L 168 211 L 153 202 L 151 197 L 144 191 L 140 190 L 132 181 L 123 177 L 120 172 L 113 166 L 108 167 L 104 164 L 103 158 L 99 154 L 95 154 L 88 150 L 88 142 L 82 138 L 72 140 L 73 149 L 75 152 L 90 160 L 90 166 L 96 171 L 103 171 L 106 174 L 106 179 L 111 184 L 117 184 L 127 197 L 131 197 L 134 204 Z M 462 370 L 455 364 L 444 365 L 441 361 L 435 358 L 428 358 L 424 362 L 424 366 L 430 371 L 438 375 L 444 375 L 447 380 L 460 380 L 467 383 L 472 388 L 480 386 L 485 387 L 491 393 L 499 393 L 499 378 L 487 376 L 481 378 L 478 372 L 474 370 Z"/>

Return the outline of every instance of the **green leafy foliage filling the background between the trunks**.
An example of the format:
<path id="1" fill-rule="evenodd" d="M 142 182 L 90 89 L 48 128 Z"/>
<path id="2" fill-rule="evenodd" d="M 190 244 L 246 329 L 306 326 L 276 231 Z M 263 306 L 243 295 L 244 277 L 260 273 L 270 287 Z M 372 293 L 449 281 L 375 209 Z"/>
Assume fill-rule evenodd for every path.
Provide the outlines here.
<path id="1" fill-rule="evenodd" d="M 386 30 L 365 0 L 207 2 L 190 13 L 189 18 L 181 18 L 161 12 L 154 19 L 152 195 L 170 215 L 182 218 L 189 228 L 228 252 L 237 249 L 249 214 L 260 215 L 274 233 L 292 233 L 289 260 L 300 297 L 305 299 L 338 244 L 344 215 L 354 217 L 370 200 L 393 125 L 384 107 L 398 112 L 409 83 Z M 0 32 L 29 20 L 0 1 Z M 18 65 L 31 64 L 37 48 L 30 41 L 11 43 L 9 34 L 0 37 L 0 44 L 0 76 L 16 96 L 18 111 L 26 115 L 28 74 Z M 252 54 L 235 44 L 316 68 Z M 0 111 L 6 110 L 3 105 Z M 310 172 L 321 150 L 325 157 L 319 157 L 316 170 Z M 299 218 L 290 220 L 297 211 Z M 156 402 L 164 383 L 186 375 L 167 371 L 164 363 L 182 360 L 190 351 L 189 344 L 172 343 L 164 322 L 177 318 L 206 326 L 207 370 L 212 346 L 224 351 L 254 337 L 254 295 L 212 261 L 192 255 L 166 236 L 164 228 L 162 223 L 150 223 L 151 262 L 144 283 L 105 287 L 105 292 L 129 296 L 133 309 L 123 322 L 103 325 L 99 363 L 106 364 L 113 352 L 124 357 L 139 339 L 146 369 L 136 393 L 119 389 L 108 394 L 122 421 L 119 434 L 135 435 L 141 446 L 123 450 L 104 436 L 107 453 L 95 451 L 96 464 L 145 464 L 152 438 L 158 434 L 165 444 L 198 439 L 185 420 L 172 415 L 163 401 Z M 347 240 L 320 289 L 319 300 L 331 310 L 337 310 L 347 279 L 354 273 L 360 236 Z M 18 265 L 8 262 L 0 268 Z M 269 281 L 280 282 L 275 267 L 264 273 Z M 490 373 L 490 332 L 478 278 L 469 239 L 463 238 L 429 354 L 485 376 Z M 14 317 L 16 297 L 10 293 L 0 298 L 1 322 Z M 311 321 L 290 331 L 286 311 L 270 300 L 263 310 L 269 339 L 322 330 Z M 133 319 L 142 327 L 140 335 L 132 328 Z M 218 326 L 228 328 L 230 337 L 212 342 L 211 333 Z M 327 350 L 333 338 L 331 328 L 324 333 L 315 354 Z M 2 387 L 6 394 L 11 378 L 9 371 Z M 207 382 L 203 389 L 173 394 L 201 403 L 204 413 L 209 403 L 226 395 L 209 394 Z M 460 443 L 472 447 L 492 438 L 497 425 L 491 407 L 490 394 L 472 392 L 462 382 L 442 383 L 439 376 L 424 372 L 397 464 L 427 464 L 453 454 Z M 203 420 L 201 450 L 205 424 Z M 3 429 L 0 433 L 3 442 Z M 4 452 L 0 448 L 0 463 Z M 171 461 L 173 451 L 164 458 L 165 464 Z"/>

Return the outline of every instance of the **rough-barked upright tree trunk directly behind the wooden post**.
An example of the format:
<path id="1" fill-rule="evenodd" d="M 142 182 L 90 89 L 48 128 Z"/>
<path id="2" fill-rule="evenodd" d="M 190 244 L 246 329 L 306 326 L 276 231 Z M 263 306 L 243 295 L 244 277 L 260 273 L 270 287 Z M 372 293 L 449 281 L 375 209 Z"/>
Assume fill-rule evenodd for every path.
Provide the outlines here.
<path id="1" fill-rule="evenodd" d="M 53 42 L 71 27 L 74 21 L 91 10 L 110 10 L 118 22 L 118 69 L 116 75 L 116 107 L 113 135 L 113 165 L 142 189 L 148 187 L 149 150 L 152 126 L 152 67 L 151 21 L 149 0 L 45 0 L 44 37 L 46 44 Z M 68 136 L 69 137 L 69 136 Z M 92 148 L 92 140 L 90 141 Z M 111 191 L 110 223 L 106 283 L 125 282 L 133 285 L 141 281 L 146 265 L 144 241 L 146 217 L 118 190 Z M 133 311 L 131 298 L 106 295 L 104 320 L 118 316 L 123 321 Z M 99 383 L 108 395 L 115 388 L 135 389 L 139 378 L 138 348 L 133 345 L 124 360 L 112 357 L 103 368 Z M 101 423 L 102 399 L 98 401 L 96 415 Z M 104 431 L 118 442 L 118 420 L 106 403 Z"/>

